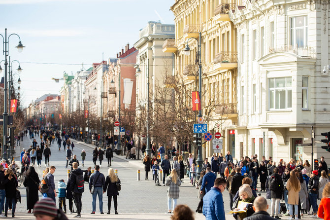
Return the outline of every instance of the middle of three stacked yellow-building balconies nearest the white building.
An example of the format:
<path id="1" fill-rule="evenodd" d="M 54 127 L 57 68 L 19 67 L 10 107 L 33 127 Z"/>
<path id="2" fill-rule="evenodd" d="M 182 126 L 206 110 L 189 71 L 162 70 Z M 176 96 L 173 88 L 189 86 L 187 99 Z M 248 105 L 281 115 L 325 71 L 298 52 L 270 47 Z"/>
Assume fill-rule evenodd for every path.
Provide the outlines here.
<path id="1" fill-rule="evenodd" d="M 221 51 L 213 59 L 216 69 L 232 70 L 237 68 L 237 52 Z"/>

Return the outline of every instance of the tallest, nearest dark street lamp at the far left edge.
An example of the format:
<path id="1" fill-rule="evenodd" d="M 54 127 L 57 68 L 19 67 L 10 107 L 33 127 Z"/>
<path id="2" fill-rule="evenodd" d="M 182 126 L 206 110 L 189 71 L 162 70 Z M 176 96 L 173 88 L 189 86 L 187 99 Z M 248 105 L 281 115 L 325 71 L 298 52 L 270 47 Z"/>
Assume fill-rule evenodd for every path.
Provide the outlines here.
<path id="1" fill-rule="evenodd" d="M 19 37 L 17 34 L 11 34 L 7 37 L 7 29 L 4 29 L 4 37 L 3 35 L 0 34 L 2 37 L 2 43 L 3 43 L 3 50 L 2 53 L 4 55 L 4 95 L 3 95 L 3 136 L 2 136 L 2 146 L 1 146 L 1 153 L 2 153 L 2 158 L 7 159 L 7 144 L 6 144 L 6 137 L 7 137 L 7 123 L 8 123 L 8 112 L 7 112 L 7 106 L 8 106 L 8 100 L 7 100 L 7 92 L 8 92 L 8 84 L 7 84 L 7 66 L 8 66 L 8 61 L 7 57 L 9 55 L 9 37 L 12 35 L 16 35 L 19 38 L 19 43 L 16 46 L 18 52 L 22 52 L 23 46 L 21 42 L 21 37 Z"/>

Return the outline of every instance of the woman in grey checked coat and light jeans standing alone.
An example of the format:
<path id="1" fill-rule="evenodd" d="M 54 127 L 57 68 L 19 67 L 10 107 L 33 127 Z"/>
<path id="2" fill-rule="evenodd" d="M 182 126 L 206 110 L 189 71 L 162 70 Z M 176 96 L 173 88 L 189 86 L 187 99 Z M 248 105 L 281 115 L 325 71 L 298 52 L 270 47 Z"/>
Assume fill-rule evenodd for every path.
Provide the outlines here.
<path id="1" fill-rule="evenodd" d="M 172 170 L 171 174 L 166 178 L 165 185 L 168 186 L 167 189 L 167 208 L 168 212 L 166 213 L 171 213 L 171 210 L 175 209 L 177 199 L 179 198 L 179 193 L 180 193 L 180 188 L 179 186 L 181 185 L 181 182 L 179 180 L 179 177 L 176 173 L 176 170 Z M 172 207 L 172 199 L 173 199 L 173 208 Z"/>

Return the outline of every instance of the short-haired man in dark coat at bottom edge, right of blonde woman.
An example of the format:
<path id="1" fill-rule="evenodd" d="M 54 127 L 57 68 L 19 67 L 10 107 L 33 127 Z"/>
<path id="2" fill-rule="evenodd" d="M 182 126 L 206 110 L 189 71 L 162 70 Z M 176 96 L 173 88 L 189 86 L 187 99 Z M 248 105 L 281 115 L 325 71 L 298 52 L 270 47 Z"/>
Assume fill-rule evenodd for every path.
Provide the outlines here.
<path id="1" fill-rule="evenodd" d="M 245 220 L 276 220 L 270 217 L 267 213 L 267 200 L 263 196 L 258 196 L 254 200 L 253 209 L 255 213 L 253 213 L 250 217 L 246 217 Z"/>

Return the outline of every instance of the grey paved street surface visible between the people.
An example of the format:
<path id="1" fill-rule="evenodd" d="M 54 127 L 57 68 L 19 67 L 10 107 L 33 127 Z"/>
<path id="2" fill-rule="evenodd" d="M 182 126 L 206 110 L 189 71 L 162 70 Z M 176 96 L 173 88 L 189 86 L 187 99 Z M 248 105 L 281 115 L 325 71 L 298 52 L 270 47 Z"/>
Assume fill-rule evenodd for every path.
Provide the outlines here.
<path id="1" fill-rule="evenodd" d="M 36 137 L 36 141 L 40 143 L 40 138 Z M 81 162 L 80 153 L 82 149 L 86 151 L 86 160 L 85 167 L 81 167 L 81 169 L 87 169 L 87 167 L 93 167 L 94 164 L 92 162 L 92 151 L 95 146 L 74 141 L 75 147 L 73 150 L 73 154 L 77 154 L 77 159 Z M 21 149 L 23 147 L 29 148 L 32 145 L 32 140 L 29 137 L 24 137 L 24 141 L 21 142 L 20 146 L 16 147 L 16 157 L 18 157 L 17 161 L 19 161 L 19 155 Z M 56 171 L 54 173 L 55 184 L 57 186 L 57 182 L 60 179 L 67 180 L 67 169 L 66 165 L 66 154 L 63 150 L 63 146 L 61 150 L 58 149 L 56 142 L 51 145 L 51 157 L 50 157 L 50 165 L 56 166 Z M 100 168 L 100 172 L 104 174 L 104 176 L 108 173 L 107 160 L 102 161 L 102 166 Z M 97 162 L 99 165 L 99 161 Z M 45 169 L 44 161 L 42 161 L 42 166 L 37 167 L 34 166 L 36 172 L 39 174 L 41 178 L 42 172 Z M 151 172 L 149 172 L 149 181 L 145 181 L 145 172 L 144 165 L 141 160 L 129 160 L 125 159 L 125 156 L 120 156 L 114 154 L 112 161 L 112 168 L 118 170 L 118 177 L 122 183 L 122 190 L 119 192 L 118 196 L 118 213 L 119 215 L 114 215 L 114 206 L 113 202 L 111 204 L 111 214 L 110 215 L 100 215 L 99 211 L 99 201 L 97 201 L 96 205 L 96 214 L 90 215 L 92 212 L 92 195 L 88 191 L 88 183 L 85 183 L 85 192 L 82 196 L 82 218 L 81 219 L 114 219 L 114 220 L 169 220 L 171 214 L 165 214 L 167 212 L 167 186 L 155 186 L 154 181 L 152 181 Z M 140 181 L 137 181 L 137 170 L 140 170 Z M 162 184 L 162 183 L 161 183 Z M 16 219 L 34 219 L 33 214 L 28 214 L 26 209 L 26 190 L 22 184 L 19 187 L 22 196 L 22 203 L 17 203 L 16 205 Z M 198 190 L 195 186 L 192 186 L 189 183 L 189 178 L 185 177 L 184 183 L 180 186 L 180 196 L 177 201 L 177 204 L 186 204 L 188 205 L 193 212 L 198 205 L 199 199 L 197 198 Z M 265 197 L 265 192 L 257 192 L 261 193 L 262 196 Z M 229 207 L 229 194 L 227 191 L 223 193 L 224 203 L 225 203 L 225 213 L 230 212 Z M 39 194 L 39 199 L 41 199 L 41 194 Z M 268 204 L 270 205 L 270 201 L 268 200 Z M 58 205 L 58 201 L 57 201 Z M 68 202 L 66 202 L 66 207 L 68 210 Z M 103 212 L 106 213 L 107 210 L 107 196 L 103 194 Z M 270 210 L 268 210 L 269 212 Z M 67 214 L 68 219 L 74 219 L 75 214 Z M 10 214 L 8 213 L 8 216 Z M 233 220 L 232 215 L 226 214 L 227 220 Z M 282 217 L 283 220 L 288 219 L 287 217 Z M 311 216 L 303 217 L 305 220 L 311 219 Z M 205 217 L 202 214 L 195 213 L 195 220 L 205 220 Z"/>

